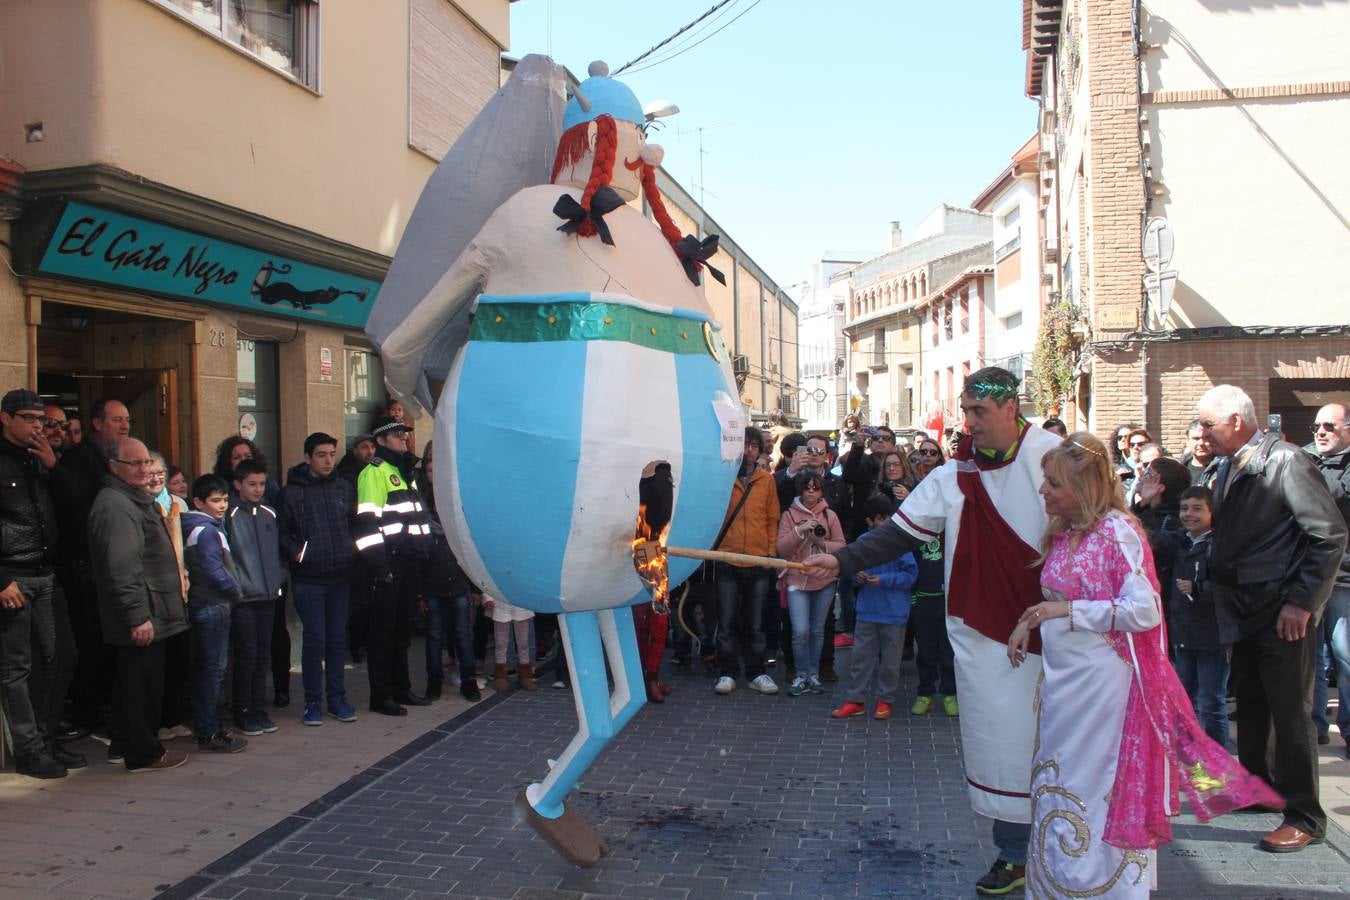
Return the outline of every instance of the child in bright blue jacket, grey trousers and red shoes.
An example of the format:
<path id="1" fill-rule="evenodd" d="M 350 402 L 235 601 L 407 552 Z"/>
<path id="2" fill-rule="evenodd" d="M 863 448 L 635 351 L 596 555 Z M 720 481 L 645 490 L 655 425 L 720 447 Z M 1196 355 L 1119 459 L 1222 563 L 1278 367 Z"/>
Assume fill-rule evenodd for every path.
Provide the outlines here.
<path id="1" fill-rule="evenodd" d="M 895 501 L 873 494 L 863 506 L 867 526 L 880 528 L 895 514 Z M 910 587 L 918 575 L 914 555 L 865 569 L 853 576 L 857 586 L 857 621 L 853 629 L 853 663 L 848 699 L 830 712 L 848 719 L 867 711 L 867 692 L 876 676 L 878 719 L 891 718 L 895 692 L 900 687 L 900 650 L 905 623 L 910 618 Z"/>

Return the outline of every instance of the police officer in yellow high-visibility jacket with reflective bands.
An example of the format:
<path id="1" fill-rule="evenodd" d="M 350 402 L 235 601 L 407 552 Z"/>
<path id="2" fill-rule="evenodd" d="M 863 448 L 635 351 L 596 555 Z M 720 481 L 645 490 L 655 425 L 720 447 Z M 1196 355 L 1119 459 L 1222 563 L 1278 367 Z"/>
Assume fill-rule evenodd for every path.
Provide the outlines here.
<path id="1" fill-rule="evenodd" d="M 371 575 L 370 710 L 408 715 L 402 704 L 427 706 L 413 694 L 408 673 L 408 645 L 413 611 L 421 588 L 421 560 L 431 549 L 431 524 L 413 480 L 417 461 L 408 452 L 404 422 L 390 416 L 375 420 L 371 434 L 375 456 L 356 476 L 356 549 Z"/>

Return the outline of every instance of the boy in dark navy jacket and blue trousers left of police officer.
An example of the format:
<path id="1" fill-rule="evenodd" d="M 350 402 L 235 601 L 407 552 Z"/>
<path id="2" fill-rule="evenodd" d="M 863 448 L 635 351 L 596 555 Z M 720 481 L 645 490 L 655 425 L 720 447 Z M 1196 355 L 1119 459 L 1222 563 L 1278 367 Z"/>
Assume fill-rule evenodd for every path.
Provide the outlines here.
<path id="1" fill-rule="evenodd" d="M 350 525 L 356 490 L 336 470 L 338 439 L 315 432 L 305 439 L 305 461 L 290 468 L 286 487 L 277 495 L 277 540 L 290 567 L 301 625 L 300 680 L 305 688 L 301 722 L 309 726 L 324 723 L 325 696 L 328 715 L 339 722 L 356 721 L 343 675 L 350 575 L 356 556 Z"/>

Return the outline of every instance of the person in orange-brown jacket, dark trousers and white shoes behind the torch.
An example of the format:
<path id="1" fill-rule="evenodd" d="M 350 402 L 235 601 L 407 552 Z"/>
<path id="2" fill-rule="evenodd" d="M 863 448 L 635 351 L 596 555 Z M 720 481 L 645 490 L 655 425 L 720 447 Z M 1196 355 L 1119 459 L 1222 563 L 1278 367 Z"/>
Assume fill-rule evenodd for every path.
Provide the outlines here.
<path id="1" fill-rule="evenodd" d="M 778 542 L 778 487 L 774 476 L 759 468 L 764 437 L 756 428 L 745 429 L 745 459 L 732 487 L 722 521 L 722 538 L 716 549 L 753 556 L 774 556 Z M 745 680 L 752 691 L 778 694 L 778 685 L 764 671 L 764 607 L 774 596 L 774 569 L 763 565 L 716 563 L 717 567 L 717 667 L 713 690 L 730 694 L 745 664 Z"/>

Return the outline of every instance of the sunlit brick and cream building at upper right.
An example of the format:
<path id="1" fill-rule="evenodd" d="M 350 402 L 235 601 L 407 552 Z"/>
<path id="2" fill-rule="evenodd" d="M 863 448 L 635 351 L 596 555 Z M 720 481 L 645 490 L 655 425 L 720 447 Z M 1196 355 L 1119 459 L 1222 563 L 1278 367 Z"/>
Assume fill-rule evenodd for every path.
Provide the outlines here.
<path id="1" fill-rule="evenodd" d="M 1041 290 L 1077 318 L 1066 416 L 1098 433 L 1142 421 L 1180 448 L 1195 401 L 1230 382 L 1303 443 L 1319 405 L 1350 399 L 1350 18 L 1237 0 L 1022 11 Z"/>

